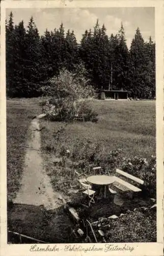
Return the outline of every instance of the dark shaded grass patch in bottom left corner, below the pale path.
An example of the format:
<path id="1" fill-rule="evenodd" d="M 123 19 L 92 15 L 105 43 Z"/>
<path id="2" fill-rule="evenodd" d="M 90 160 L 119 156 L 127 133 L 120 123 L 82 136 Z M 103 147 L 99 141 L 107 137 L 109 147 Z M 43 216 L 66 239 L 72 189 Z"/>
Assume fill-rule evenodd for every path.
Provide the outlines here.
<path id="1" fill-rule="evenodd" d="M 63 207 L 46 210 L 43 205 L 8 204 L 8 229 L 10 231 L 46 243 L 71 243 L 75 242 L 70 236 L 73 227 L 74 224 Z M 8 243 L 10 242 L 18 243 L 16 240 L 12 241 L 9 236 Z"/>

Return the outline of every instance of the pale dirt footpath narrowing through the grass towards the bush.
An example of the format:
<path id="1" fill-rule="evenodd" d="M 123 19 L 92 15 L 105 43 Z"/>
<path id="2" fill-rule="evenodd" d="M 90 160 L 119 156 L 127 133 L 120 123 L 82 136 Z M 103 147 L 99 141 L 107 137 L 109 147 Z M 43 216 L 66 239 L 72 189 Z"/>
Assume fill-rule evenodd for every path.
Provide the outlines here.
<path id="1" fill-rule="evenodd" d="M 44 205 L 47 210 L 56 209 L 62 205 L 60 194 L 54 192 L 49 177 L 43 167 L 40 151 L 41 136 L 39 119 L 41 114 L 32 120 L 29 129 L 29 141 L 26 148 L 21 187 L 13 203 L 27 205 Z"/>

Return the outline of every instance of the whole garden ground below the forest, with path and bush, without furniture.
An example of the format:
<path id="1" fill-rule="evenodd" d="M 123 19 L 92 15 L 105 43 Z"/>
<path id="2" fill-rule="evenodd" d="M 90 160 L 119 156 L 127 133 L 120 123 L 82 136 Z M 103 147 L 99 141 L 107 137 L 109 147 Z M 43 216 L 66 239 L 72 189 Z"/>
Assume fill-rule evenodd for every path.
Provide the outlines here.
<path id="1" fill-rule="evenodd" d="M 76 231 L 80 229 L 83 233 L 86 229 L 87 221 L 92 223 L 99 242 L 155 242 L 155 101 L 98 100 L 84 77 L 83 66 L 77 66 L 75 73 L 62 70 L 58 77 L 49 79 L 42 91 L 41 98 L 7 101 L 9 227 L 45 242 L 95 242 L 92 233 L 89 240 L 77 235 Z M 39 114 L 43 114 L 42 118 L 37 119 Z M 27 151 L 28 145 L 33 148 Z M 31 165 L 26 168 L 29 154 Z M 101 175 L 105 177 L 114 177 L 119 168 L 128 176 L 142 180 L 140 193 L 133 198 L 128 193 L 122 194 L 120 204 L 109 191 L 104 198 L 97 197 L 96 192 L 95 203 L 86 206 L 88 203 L 81 193 L 79 180 L 92 176 L 96 166 L 101 167 Z M 24 183 L 20 185 L 22 175 Z M 50 191 L 48 181 L 42 182 L 46 177 L 52 189 L 49 196 L 42 198 L 42 194 Z M 29 187 L 29 195 L 26 195 L 27 179 L 33 184 Z M 123 181 L 127 180 L 124 177 Z M 22 199 L 13 204 L 18 190 Z M 62 200 L 63 206 L 46 209 L 46 202 L 43 207 L 39 206 L 37 201 L 42 202 L 42 199 L 54 203 L 52 191 L 56 194 L 55 200 Z M 33 204 L 29 205 L 34 193 Z M 24 201 L 27 197 L 28 201 Z M 26 204 L 23 205 L 22 200 Z M 80 222 L 76 220 L 75 223 L 74 219 L 71 222 L 70 209 Z M 34 219 L 38 221 L 29 231 Z M 47 228 L 51 230 L 49 235 Z"/>

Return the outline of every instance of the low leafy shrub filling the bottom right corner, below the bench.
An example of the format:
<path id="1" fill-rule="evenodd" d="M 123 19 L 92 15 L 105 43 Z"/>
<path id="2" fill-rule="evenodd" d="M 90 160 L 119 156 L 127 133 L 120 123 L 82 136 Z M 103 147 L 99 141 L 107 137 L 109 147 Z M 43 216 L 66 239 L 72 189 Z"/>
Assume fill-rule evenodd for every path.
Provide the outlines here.
<path id="1" fill-rule="evenodd" d="M 129 211 L 111 220 L 105 239 L 110 243 L 156 242 L 156 212 Z"/>

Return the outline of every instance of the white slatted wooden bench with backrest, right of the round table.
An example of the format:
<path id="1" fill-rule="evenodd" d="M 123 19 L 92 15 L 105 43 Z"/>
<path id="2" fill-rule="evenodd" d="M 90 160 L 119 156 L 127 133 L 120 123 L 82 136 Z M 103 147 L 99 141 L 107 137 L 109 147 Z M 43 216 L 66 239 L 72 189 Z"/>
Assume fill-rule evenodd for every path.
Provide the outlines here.
<path id="1" fill-rule="evenodd" d="M 130 175 L 128 173 L 125 173 L 125 172 L 123 172 L 123 170 L 116 169 L 116 174 L 119 174 L 122 177 L 126 177 L 129 181 L 135 181 L 136 184 L 141 184 L 141 185 L 144 184 L 143 180 L 141 180 L 139 178 L 136 178 L 135 176 Z M 122 180 L 119 177 L 114 176 L 113 179 L 114 179 L 114 182 L 112 183 L 112 187 L 110 185 L 110 187 L 108 188 L 109 191 L 112 194 L 118 194 L 118 191 L 121 190 L 123 192 L 124 191 L 130 191 L 131 192 L 131 196 L 133 196 L 133 193 L 137 193 L 137 192 L 142 191 L 141 188 L 136 187 L 136 186 L 130 184 L 129 182 Z M 117 188 L 118 190 L 115 190 L 115 188 Z"/>

